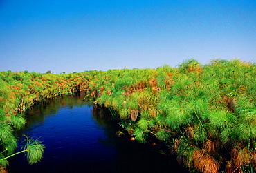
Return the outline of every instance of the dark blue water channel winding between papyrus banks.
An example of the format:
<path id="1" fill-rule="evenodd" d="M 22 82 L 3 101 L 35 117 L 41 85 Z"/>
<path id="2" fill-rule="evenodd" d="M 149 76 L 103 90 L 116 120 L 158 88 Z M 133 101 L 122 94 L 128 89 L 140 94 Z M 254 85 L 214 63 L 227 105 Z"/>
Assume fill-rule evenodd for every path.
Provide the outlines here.
<path id="1" fill-rule="evenodd" d="M 117 123 L 93 110 L 93 103 L 82 101 L 82 96 L 39 103 L 27 113 L 27 121 L 19 136 L 40 137 L 44 157 L 28 165 L 24 154 L 13 156 L 9 172 L 186 172 L 175 157 L 118 138 Z"/>

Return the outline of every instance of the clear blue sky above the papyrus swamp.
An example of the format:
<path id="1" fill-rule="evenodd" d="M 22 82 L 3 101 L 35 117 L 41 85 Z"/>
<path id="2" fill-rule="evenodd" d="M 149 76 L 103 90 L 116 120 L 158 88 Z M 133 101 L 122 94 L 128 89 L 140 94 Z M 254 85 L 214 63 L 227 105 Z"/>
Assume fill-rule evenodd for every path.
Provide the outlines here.
<path id="1" fill-rule="evenodd" d="M 0 71 L 255 63 L 255 9 L 255 0 L 0 0 Z"/>

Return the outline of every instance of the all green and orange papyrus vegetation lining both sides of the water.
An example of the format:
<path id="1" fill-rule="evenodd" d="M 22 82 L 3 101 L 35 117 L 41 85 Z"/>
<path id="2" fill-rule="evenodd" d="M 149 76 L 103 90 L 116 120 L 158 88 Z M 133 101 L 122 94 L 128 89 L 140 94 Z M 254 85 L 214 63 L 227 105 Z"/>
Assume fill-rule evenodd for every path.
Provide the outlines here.
<path id="1" fill-rule="evenodd" d="M 86 92 L 120 121 L 116 135 L 138 143 L 164 143 L 191 172 L 255 172 L 256 65 L 194 59 L 177 68 L 86 71 L 73 74 L 0 72 L 0 165 L 17 147 L 24 111 L 43 99 Z M 27 139 L 30 164 L 44 145 Z"/>

